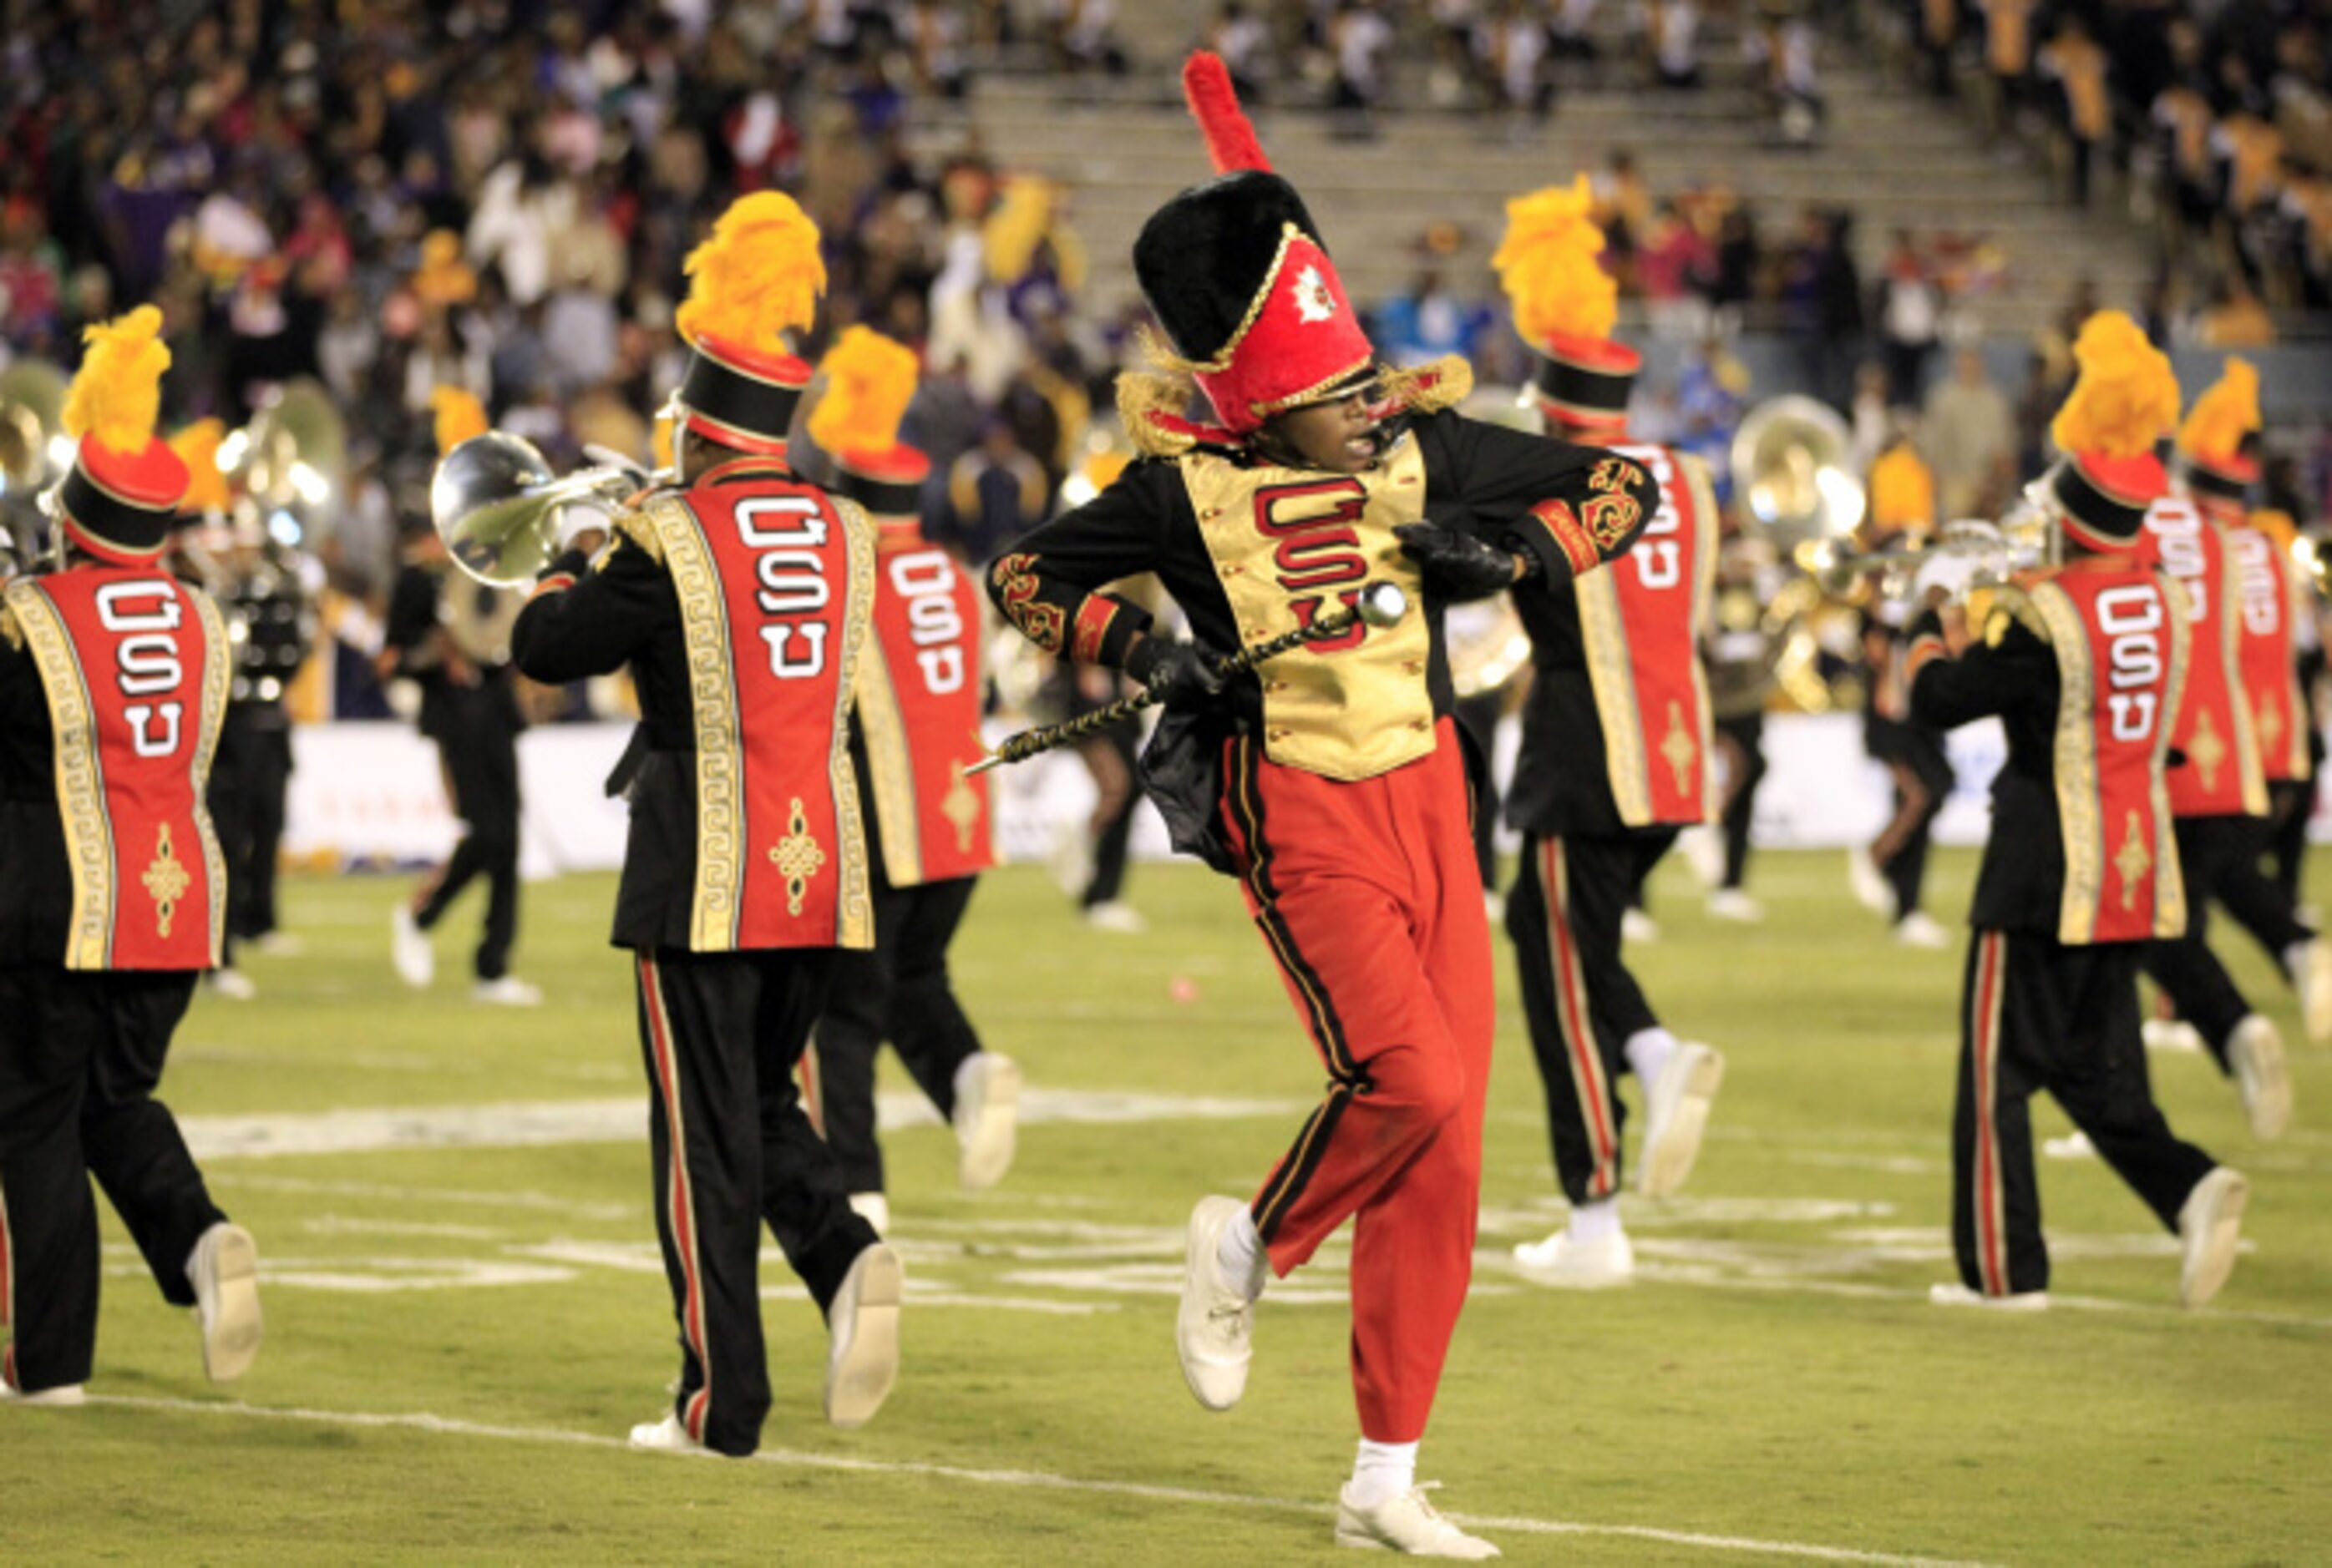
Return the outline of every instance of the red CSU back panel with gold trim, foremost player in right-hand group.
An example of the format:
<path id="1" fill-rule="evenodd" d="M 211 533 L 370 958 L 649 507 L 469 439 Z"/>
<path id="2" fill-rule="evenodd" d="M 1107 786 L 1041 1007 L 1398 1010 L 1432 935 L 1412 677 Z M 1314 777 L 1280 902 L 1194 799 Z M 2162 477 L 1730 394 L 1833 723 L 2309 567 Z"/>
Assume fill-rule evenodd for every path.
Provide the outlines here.
<path id="1" fill-rule="evenodd" d="M 2057 650 L 2064 944 L 2185 932 L 2162 764 L 2185 685 L 2185 594 L 2129 557 L 2075 561 L 2031 589 Z"/>

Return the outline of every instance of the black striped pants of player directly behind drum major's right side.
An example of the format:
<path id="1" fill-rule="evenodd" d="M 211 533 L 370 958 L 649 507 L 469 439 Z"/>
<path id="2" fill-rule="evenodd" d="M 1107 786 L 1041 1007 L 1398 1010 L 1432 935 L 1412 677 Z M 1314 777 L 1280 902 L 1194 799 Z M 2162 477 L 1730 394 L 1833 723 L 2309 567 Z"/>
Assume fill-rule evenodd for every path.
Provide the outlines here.
<path id="1" fill-rule="evenodd" d="M 1618 1195 L 1628 1111 L 1616 1081 L 1628 1072 L 1628 1037 L 1660 1023 L 1628 974 L 1618 927 L 1637 883 L 1674 841 L 1674 827 L 1527 836 L 1523 874 L 1506 895 L 1555 1177 L 1574 1205 Z"/>

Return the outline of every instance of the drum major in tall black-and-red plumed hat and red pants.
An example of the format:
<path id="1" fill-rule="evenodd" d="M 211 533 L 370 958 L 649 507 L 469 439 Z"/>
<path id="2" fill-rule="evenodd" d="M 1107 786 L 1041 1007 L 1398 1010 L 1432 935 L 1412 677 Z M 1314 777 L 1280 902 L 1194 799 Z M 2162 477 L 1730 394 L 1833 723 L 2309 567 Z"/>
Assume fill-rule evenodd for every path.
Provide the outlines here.
<path id="1" fill-rule="evenodd" d="M 1166 699 L 1145 785 L 1180 848 L 1243 881 L 1332 1079 L 1255 1200 L 1192 1214 L 1175 1326 L 1192 1393 L 1208 1410 L 1241 1398 L 1266 1277 L 1355 1219 L 1362 1445 L 1336 1538 L 1495 1556 L 1416 1486 L 1471 1274 L 1495 1013 L 1441 606 L 1506 587 L 1567 596 L 1635 543 L 1656 492 L 1623 457 L 1451 412 L 1471 382 L 1462 361 L 1385 370 L 1222 63 L 1192 56 L 1185 91 L 1220 177 L 1159 207 L 1133 245 L 1175 370 L 1119 377 L 1152 457 L 1017 541 L 989 594 L 1031 641 Z M 1189 417 L 1192 382 L 1213 422 Z M 1196 643 L 1096 592 L 1145 571 Z M 1355 603 L 1371 578 L 1423 596 L 1423 613 L 1222 685 L 1213 655 Z"/>

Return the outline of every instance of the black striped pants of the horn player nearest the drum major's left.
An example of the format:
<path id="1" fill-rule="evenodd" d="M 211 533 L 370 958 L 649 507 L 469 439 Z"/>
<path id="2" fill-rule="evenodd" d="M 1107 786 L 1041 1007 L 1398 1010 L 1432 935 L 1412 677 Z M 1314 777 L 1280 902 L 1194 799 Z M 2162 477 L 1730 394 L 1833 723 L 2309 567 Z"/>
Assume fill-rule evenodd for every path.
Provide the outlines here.
<path id="1" fill-rule="evenodd" d="M 770 1414 L 760 1228 L 826 1312 L 874 1230 L 809 1125 L 793 1067 L 826 1004 L 833 953 L 639 953 L 655 1232 L 681 1328 L 674 1414 L 744 1456 Z"/>

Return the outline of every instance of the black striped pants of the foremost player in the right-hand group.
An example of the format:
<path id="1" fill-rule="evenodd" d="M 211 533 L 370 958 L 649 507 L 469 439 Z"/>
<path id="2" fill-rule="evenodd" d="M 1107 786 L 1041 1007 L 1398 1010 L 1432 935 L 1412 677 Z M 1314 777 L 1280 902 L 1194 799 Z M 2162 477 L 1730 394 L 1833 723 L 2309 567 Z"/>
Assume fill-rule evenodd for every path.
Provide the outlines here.
<path id="1" fill-rule="evenodd" d="M 1985 1295 L 2047 1288 L 2029 1100 L 2047 1090 L 2164 1228 L 2211 1174 L 2155 1107 L 2138 1039 L 2141 944 L 2068 948 L 1978 930 L 1952 1111 L 1952 1251 Z"/>

